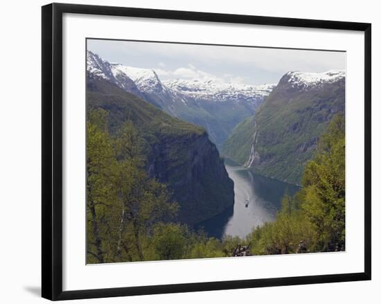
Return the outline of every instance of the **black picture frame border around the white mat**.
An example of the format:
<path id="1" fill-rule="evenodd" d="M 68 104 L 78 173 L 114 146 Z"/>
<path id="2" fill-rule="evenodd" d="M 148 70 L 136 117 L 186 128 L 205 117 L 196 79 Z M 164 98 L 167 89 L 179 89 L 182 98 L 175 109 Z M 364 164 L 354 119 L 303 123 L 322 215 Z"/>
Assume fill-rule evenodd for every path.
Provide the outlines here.
<path id="1" fill-rule="evenodd" d="M 64 13 L 364 32 L 364 272 L 62 291 L 62 15 Z M 371 24 L 52 3 L 42 7 L 42 296 L 50 300 L 371 280 Z"/>

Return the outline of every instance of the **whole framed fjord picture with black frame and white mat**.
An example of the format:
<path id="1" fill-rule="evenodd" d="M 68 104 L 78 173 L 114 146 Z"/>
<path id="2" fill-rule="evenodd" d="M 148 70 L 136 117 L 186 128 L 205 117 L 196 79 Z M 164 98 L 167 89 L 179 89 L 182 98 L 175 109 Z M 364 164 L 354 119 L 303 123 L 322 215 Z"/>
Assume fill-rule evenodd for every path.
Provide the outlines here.
<path id="1" fill-rule="evenodd" d="M 371 24 L 42 7 L 42 296 L 371 279 Z"/>

